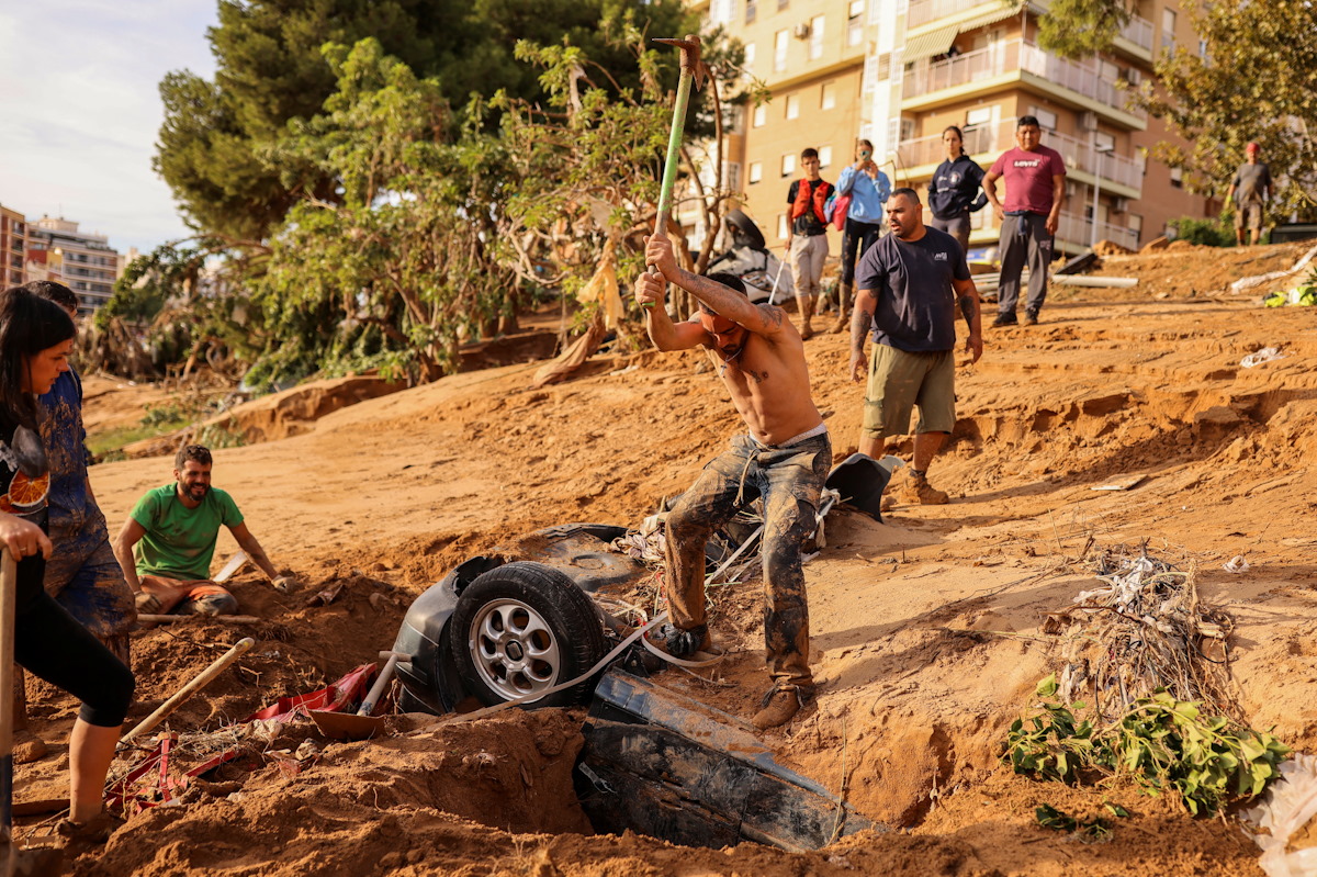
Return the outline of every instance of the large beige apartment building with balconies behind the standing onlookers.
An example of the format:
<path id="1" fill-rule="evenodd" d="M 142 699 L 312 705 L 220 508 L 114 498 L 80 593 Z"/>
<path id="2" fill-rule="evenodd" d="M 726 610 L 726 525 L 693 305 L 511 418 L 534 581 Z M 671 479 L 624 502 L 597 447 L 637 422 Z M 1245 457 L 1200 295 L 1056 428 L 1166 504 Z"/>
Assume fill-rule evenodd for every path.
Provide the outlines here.
<path id="1" fill-rule="evenodd" d="M 1025 115 L 1039 119 L 1043 144 L 1065 159 L 1063 253 L 1097 240 L 1135 249 L 1168 220 L 1218 209 L 1148 158 L 1164 129 L 1127 101 L 1126 90 L 1151 75 L 1155 53 L 1198 46 L 1179 3 L 1139 0 L 1112 50 L 1080 62 L 1038 46 L 1046 8 L 1038 0 L 710 0 L 707 18 L 745 43 L 747 66 L 773 95 L 751 113 L 740 153 L 730 157 L 744 165 L 745 209 L 769 244 L 785 237 L 786 188 L 799 175 L 802 147 L 818 149 L 824 179 L 835 180 L 855 138 L 868 137 L 893 184 L 923 190 L 944 157 L 944 128 L 960 126 L 965 151 L 986 170 L 1014 145 Z M 976 213 L 972 249 L 990 250 L 997 237 L 992 211 Z"/>

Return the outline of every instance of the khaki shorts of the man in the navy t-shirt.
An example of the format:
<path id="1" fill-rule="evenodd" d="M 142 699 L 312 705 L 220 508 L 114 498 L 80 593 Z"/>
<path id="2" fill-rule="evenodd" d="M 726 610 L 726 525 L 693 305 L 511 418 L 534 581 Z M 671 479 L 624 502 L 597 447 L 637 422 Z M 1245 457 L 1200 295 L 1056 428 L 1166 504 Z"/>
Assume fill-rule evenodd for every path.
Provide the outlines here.
<path id="1" fill-rule="evenodd" d="M 917 433 L 955 429 L 955 353 L 907 353 L 886 344 L 871 345 L 861 425 L 864 435 L 878 438 L 907 435 L 914 406 L 919 406 Z"/>

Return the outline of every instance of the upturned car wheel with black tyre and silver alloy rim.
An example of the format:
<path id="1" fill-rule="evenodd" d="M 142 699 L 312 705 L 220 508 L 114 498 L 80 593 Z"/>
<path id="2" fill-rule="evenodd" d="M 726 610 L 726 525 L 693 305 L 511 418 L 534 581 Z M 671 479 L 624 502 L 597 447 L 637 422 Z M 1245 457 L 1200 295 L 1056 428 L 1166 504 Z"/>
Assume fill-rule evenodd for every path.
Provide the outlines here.
<path id="1" fill-rule="evenodd" d="M 450 622 L 453 658 L 468 690 L 494 706 L 573 679 L 605 654 L 603 624 L 590 598 L 552 566 L 519 561 L 462 590 Z M 585 699 L 591 681 L 527 706 Z"/>

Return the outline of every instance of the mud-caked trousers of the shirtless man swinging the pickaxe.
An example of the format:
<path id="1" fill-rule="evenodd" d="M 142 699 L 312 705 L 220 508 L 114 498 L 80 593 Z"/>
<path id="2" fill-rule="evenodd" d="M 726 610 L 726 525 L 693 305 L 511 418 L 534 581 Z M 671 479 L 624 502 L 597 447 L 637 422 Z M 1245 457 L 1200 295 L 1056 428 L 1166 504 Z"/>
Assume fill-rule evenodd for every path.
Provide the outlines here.
<path id="1" fill-rule="evenodd" d="M 707 618 L 705 543 L 756 491 L 763 498 L 764 648 L 769 676 L 778 686 L 814 687 L 801 549 L 814 531 L 814 514 L 831 465 L 827 433 L 788 448 L 736 436 L 668 512 L 668 607 L 672 623 L 689 631 Z"/>

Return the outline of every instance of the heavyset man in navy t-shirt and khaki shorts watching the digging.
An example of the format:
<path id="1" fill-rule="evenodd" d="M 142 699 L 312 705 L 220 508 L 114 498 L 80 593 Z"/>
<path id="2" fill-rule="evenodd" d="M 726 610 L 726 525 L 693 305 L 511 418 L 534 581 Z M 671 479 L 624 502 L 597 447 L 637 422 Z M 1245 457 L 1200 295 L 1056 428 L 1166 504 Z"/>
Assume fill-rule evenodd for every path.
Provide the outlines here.
<path id="1" fill-rule="evenodd" d="M 914 462 L 896 491 L 906 503 L 942 504 L 947 494 L 928 485 L 928 464 L 956 425 L 956 309 L 969 327 L 965 350 L 982 356 L 979 290 L 965 254 L 946 232 L 923 224 L 913 188 L 888 199 L 892 234 L 871 246 L 856 269 L 859 295 L 851 315 L 851 378 L 868 375 L 860 452 L 882 454 L 882 441 L 903 435 L 919 406 Z M 873 334 L 872 362 L 864 352 Z"/>

